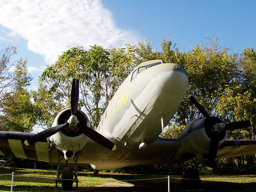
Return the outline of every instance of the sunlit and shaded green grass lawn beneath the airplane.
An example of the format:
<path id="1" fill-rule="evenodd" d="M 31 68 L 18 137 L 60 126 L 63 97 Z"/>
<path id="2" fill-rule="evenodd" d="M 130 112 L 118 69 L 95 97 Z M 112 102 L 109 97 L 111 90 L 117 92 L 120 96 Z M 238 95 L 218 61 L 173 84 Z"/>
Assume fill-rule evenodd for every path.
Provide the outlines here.
<path id="1" fill-rule="evenodd" d="M 14 172 L 13 191 L 55 191 L 56 170 L 0 167 L 0 174 Z M 40 178 L 44 177 L 44 178 Z M 78 172 L 79 191 L 167 191 L 167 179 L 120 181 L 130 179 L 162 178 L 166 175 L 136 175 L 100 172 Z M 184 191 L 178 176 L 170 176 L 171 190 Z M 11 175 L 0 176 L 0 191 L 10 191 Z M 60 187 L 60 184 L 58 184 Z M 73 184 L 73 187 L 75 183 Z M 256 175 L 202 176 L 205 191 L 256 191 Z"/>

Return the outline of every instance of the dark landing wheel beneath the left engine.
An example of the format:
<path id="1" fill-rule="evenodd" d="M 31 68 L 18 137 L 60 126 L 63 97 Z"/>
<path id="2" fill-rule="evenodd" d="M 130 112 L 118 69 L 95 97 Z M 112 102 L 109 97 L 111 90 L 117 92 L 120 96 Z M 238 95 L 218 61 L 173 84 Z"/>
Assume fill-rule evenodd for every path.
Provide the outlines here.
<path id="1" fill-rule="evenodd" d="M 74 174 L 70 166 L 65 166 L 62 169 L 61 179 L 74 179 Z M 71 191 L 74 181 L 61 180 L 61 190 L 62 191 Z"/>

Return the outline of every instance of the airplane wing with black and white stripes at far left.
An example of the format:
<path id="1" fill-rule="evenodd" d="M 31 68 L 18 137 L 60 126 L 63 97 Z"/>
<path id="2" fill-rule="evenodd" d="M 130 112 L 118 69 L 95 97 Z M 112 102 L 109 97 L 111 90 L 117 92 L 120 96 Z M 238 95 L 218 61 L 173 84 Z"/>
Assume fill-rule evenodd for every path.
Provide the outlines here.
<path id="1" fill-rule="evenodd" d="M 24 141 L 36 133 L 0 131 L 0 155 L 49 162 L 49 143 L 46 139 L 30 146 Z"/>

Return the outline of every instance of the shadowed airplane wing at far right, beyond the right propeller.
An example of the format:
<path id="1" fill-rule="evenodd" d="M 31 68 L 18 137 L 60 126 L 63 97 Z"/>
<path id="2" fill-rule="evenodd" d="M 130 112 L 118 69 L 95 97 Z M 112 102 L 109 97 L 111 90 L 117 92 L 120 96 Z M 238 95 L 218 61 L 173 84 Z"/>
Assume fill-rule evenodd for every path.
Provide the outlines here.
<path id="1" fill-rule="evenodd" d="M 256 154 L 256 140 L 225 140 L 216 159 Z"/>

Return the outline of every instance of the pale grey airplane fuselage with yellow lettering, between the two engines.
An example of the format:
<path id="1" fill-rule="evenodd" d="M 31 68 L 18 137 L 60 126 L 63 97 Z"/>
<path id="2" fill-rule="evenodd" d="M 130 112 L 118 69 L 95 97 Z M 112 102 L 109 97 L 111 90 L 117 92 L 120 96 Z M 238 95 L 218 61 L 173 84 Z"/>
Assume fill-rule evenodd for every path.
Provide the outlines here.
<path id="1" fill-rule="evenodd" d="M 132 79 L 141 67 L 158 62 L 162 61 L 146 61 L 128 75 L 102 116 L 99 133 L 125 148 L 152 143 L 159 136 L 161 116 L 166 126 L 184 97 L 188 77 L 182 66 L 161 63 Z"/>

